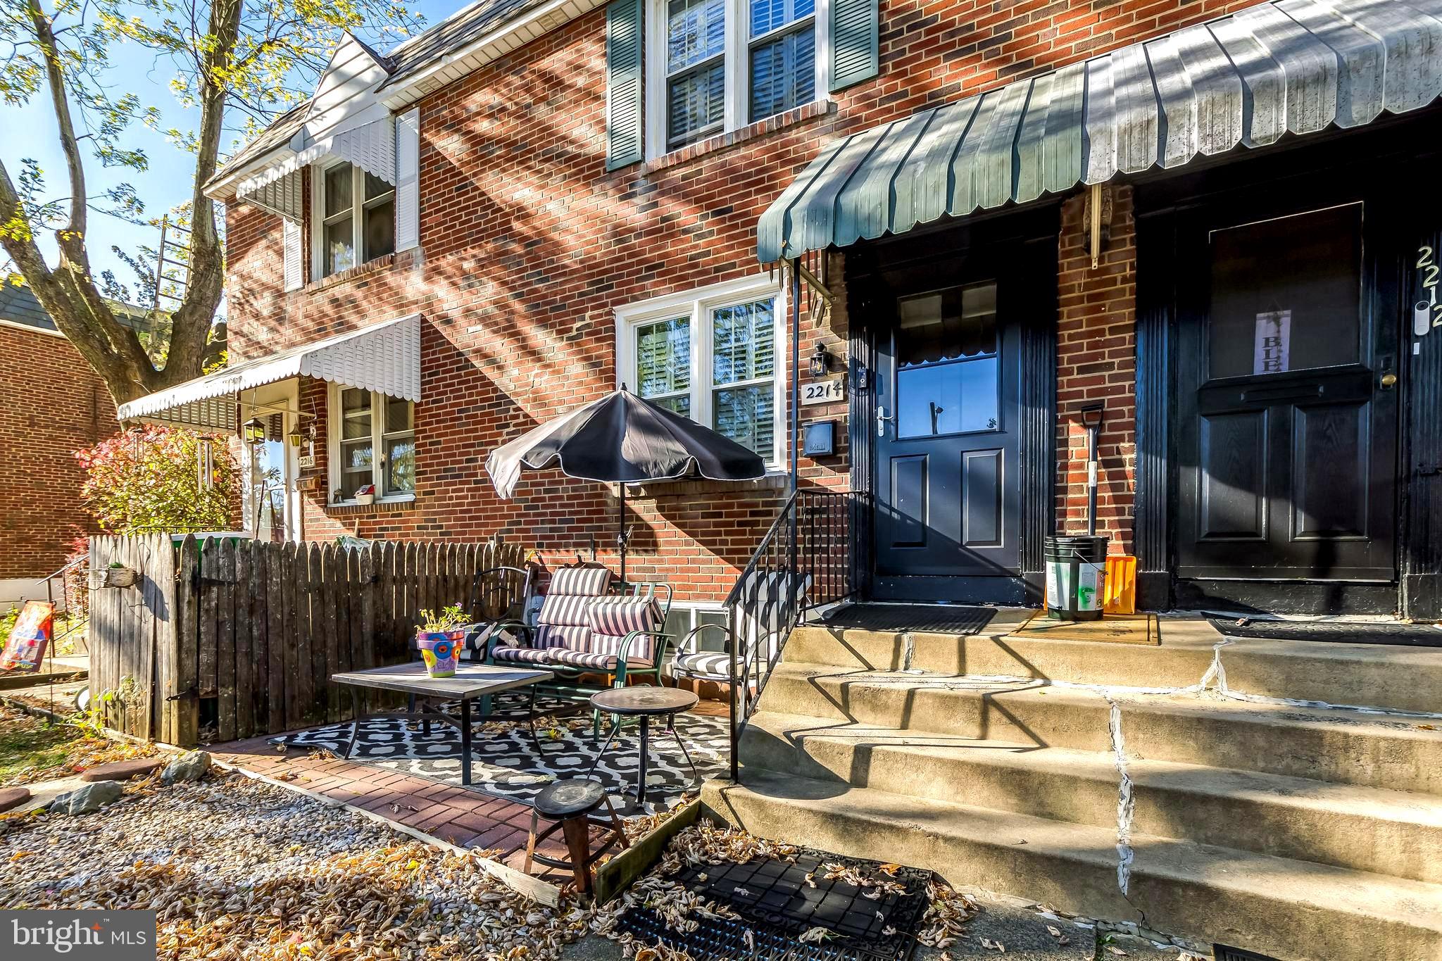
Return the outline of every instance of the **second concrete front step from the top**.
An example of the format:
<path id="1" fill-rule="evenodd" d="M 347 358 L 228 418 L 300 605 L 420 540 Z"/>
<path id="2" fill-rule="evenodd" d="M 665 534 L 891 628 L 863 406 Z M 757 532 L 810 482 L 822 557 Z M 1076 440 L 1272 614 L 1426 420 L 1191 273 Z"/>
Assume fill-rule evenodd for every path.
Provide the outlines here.
<path id="1" fill-rule="evenodd" d="M 1208 694 L 1113 689 L 1112 697 L 1129 756 L 1442 794 L 1442 730 L 1415 718 Z M 1034 748 L 1112 749 L 1106 696 L 1037 681 L 782 663 L 760 709 Z"/>

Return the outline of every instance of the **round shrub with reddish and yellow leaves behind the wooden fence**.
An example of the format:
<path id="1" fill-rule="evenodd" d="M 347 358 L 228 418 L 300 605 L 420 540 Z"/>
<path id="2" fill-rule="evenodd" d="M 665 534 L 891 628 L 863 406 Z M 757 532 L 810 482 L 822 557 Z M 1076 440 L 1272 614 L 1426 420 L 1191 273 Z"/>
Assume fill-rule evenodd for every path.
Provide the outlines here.
<path id="1" fill-rule="evenodd" d="M 211 484 L 200 484 L 200 445 L 211 444 Z M 225 438 L 150 425 L 75 452 L 81 497 L 102 530 L 118 535 L 226 530 L 239 501 L 239 471 Z"/>

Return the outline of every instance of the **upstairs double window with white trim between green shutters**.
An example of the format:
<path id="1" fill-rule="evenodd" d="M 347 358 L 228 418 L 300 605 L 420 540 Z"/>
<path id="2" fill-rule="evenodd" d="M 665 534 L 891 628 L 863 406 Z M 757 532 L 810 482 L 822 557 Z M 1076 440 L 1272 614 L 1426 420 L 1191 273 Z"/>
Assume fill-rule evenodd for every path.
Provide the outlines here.
<path id="1" fill-rule="evenodd" d="M 825 91 L 826 0 L 647 0 L 652 156 Z"/>

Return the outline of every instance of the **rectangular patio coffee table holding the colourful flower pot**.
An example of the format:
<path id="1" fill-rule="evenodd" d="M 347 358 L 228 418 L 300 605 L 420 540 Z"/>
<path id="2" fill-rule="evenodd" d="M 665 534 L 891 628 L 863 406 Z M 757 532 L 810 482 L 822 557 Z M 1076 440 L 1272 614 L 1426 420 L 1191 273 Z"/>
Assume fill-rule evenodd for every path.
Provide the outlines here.
<path id="1" fill-rule="evenodd" d="M 356 733 L 360 722 L 371 718 L 404 718 L 408 720 L 431 722 L 460 728 L 460 782 L 470 784 L 470 702 L 476 697 L 489 697 L 503 690 L 516 687 L 531 687 L 531 706 L 526 710 L 526 723 L 531 725 L 531 738 L 536 741 L 536 681 L 549 680 L 551 671 L 522 670 L 515 667 L 492 667 L 489 664 L 457 664 L 454 677 L 431 677 L 425 673 L 425 664 L 410 661 L 407 664 L 392 664 L 389 667 L 372 667 L 363 671 L 345 671 L 332 674 L 330 680 L 337 684 L 350 686 L 350 742 L 346 745 L 346 758 L 356 746 Z M 414 694 L 421 710 L 378 710 L 360 715 L 360 689 L 376 687 L 381 690 L 397 690 L 402 694 Z M 425 700 L 459 700 L 460 720 L 456 720 L 440 710 L 425 710 Z"/>

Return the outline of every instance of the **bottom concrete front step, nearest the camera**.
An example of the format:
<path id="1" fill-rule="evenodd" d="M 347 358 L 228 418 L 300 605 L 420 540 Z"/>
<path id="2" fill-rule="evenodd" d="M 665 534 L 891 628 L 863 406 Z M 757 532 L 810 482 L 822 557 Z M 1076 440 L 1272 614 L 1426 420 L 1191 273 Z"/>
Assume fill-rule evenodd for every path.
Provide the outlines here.
<path id="1" fill-rule="evenodd" d="M 763 837 L 1289 961 L 1436 961 L 1442 947 L 1439 885 L 1138 834 L 1123 898 L 1109 828 L 750 769 L 701 800 Z"/>

